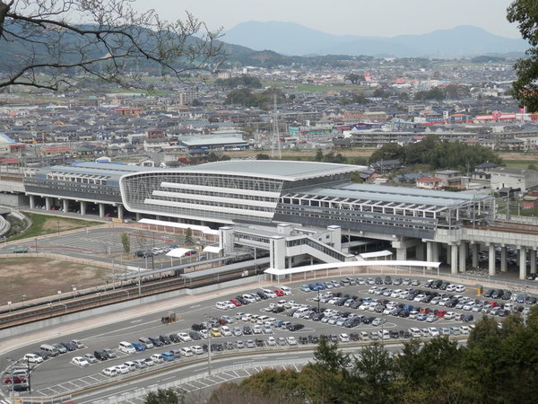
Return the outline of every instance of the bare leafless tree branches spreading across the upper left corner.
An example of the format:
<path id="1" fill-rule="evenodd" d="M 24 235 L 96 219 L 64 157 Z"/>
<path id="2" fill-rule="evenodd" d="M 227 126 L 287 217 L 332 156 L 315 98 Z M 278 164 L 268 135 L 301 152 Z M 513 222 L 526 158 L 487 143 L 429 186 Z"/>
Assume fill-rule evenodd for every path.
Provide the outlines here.
<path id="1" fill-rule="evenodd" d="M 143 86 L 139 67 L 182 77 L 220 64 L 220 31 L 190 13 L 168 22 L 153 10 L 134 11 L 133 3 L 0 0 L 0 88 L 58 90 L 74 85 L 76 74 Z"/>

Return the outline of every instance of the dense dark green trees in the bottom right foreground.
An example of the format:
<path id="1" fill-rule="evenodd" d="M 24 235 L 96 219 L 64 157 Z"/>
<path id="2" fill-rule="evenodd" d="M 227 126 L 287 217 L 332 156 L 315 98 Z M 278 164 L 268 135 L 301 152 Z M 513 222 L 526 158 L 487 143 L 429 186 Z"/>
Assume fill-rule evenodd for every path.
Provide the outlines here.
<path id="1" fill-rule="evenodd" d="M 371 344 L 344 354 L 325 338 L 300 372 L 264 370 L 213 391 L 211 404 L 533 403 L 538 380 L 538 308 L 526 325 L 484 317 L 466 346 L 411 340 L 397 354 Z"/>

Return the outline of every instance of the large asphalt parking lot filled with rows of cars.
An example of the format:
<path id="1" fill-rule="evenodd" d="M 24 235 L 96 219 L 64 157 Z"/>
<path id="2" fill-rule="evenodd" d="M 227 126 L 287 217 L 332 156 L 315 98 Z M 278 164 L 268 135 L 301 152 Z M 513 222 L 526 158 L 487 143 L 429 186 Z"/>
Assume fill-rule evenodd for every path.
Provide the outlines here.
<path id="1" fill-rule="evenodd" d="M 339 278 L 288 286 L 223 294 L 206 305 L 178 309 L 183 321 L 132 321 L 132 325 L 82 340 L 84 347 L 35 366 L 32 395 L 65 393 L 127 373 L 206 360 L 210 349 L 212 356 L 221 356 L 314 347 L 321 336 L 341 345 L 439 335 L 462 338 L 485 313 L 500 322 L 510 312 L 525 315 L 536 302 L 530 294 L 508 290 L 487 290 L 489 297 L 477 296 L 469 285 L 421 277 Z M 122 352 L 121 341 L 134 351 Z M 55 342 L 59 341 L 50 341 Z M 114 357 L 101 355 L 105 348 Z M 40 354 L 39 346 L 28 349 L 28 353 Z M 8 384 L 4 389 L 9 389 Z"/>

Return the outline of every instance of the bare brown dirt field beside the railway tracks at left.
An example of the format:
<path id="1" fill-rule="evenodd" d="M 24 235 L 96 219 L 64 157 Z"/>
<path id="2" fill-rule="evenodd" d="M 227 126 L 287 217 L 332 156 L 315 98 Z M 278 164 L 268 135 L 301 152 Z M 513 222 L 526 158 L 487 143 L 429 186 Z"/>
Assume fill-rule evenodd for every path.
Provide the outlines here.
<path id="1" fill-rule="evenodd" d="M 57 224 L 56 224 L 57 226 Z M 49 295 L 71 293 L 103 285 L 110 270 L 62 259 L 21 257 L 2 259 L 0 263 L 0 295 L 3 303 L 22 302 Z M 23 298 L 22 295 L 25 294 Z"/>

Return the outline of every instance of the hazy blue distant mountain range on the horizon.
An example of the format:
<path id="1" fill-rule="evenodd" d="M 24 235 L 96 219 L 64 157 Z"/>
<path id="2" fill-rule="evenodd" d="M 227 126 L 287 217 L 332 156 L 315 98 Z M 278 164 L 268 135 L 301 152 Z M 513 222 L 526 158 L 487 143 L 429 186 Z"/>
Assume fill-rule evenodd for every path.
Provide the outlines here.
<path id="1" fill-rule="evenodd" d="M 523 52 L 525 40 L 493 35 L 473 26 L 392 38 L 331 35 L 293 22 L 242 22 L 222 38 L 227 43 L 284 55 L 469 57 Z"/>

